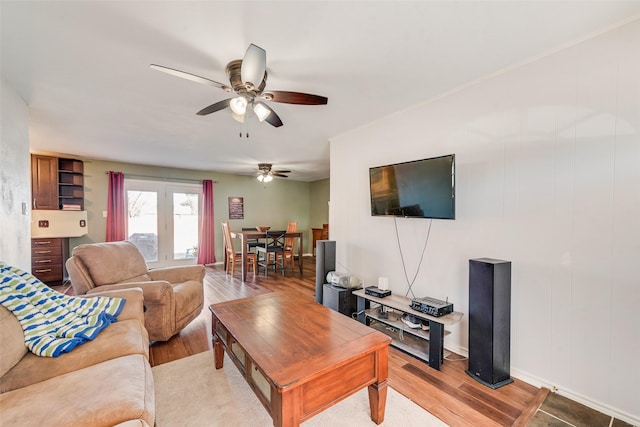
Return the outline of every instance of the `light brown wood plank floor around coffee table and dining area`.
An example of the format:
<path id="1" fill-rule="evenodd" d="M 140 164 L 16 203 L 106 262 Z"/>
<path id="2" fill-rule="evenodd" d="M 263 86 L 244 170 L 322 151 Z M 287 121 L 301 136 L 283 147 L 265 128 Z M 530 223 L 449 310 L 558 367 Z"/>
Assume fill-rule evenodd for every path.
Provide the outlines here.
<path id="1" fill-rule="evenodd" d="M 151 346 L 151 364 L 177 360 L 212 348 L 210 304 L 267 292 L 296 292 L 315 298 L 315 258 L 304 258 L 303 273 L 287 271 L 286 277 L 269 272 L 269 277 L 249 274 L 247 282 L 232 278 L 222 266 L 207 268 L 205 309 L 180 334 Z M 456 358 L 457 355 L 452 355 Z M 461 358 L 458 356 L 458 358 Z M 462 359 L 462 358 L 461 358 Z M 548 394 L 522 381 L 498 390 L 479 384 L 465 373 L 466 360 L 444 362 L 441 371 L 391 349 L 389 384 L 450 426 L 526 425 Z"/>

